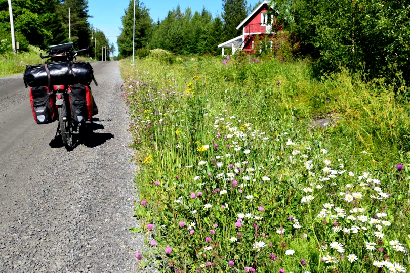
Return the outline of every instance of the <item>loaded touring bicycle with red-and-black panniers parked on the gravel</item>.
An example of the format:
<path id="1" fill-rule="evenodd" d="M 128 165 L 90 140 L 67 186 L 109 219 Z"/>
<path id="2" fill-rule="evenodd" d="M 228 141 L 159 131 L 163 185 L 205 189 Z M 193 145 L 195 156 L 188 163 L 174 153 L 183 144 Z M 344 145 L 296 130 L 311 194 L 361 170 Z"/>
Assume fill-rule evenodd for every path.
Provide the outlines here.
<path id="1" fill-rule="evenodd" d="M 90 63 L 74 62 L 84 50 L 73 50 L 72 43 L 52 45 L 44 65 L 27 65 L 24 84 L 30 86 L 30 104 L 37 124 L 58 120 L 56 136 L 61 134 L 64 147 L 74 147 L 73 132 L 81 132 L 85 121 L 98 113 L 91 94 L 94 71 Z"/>

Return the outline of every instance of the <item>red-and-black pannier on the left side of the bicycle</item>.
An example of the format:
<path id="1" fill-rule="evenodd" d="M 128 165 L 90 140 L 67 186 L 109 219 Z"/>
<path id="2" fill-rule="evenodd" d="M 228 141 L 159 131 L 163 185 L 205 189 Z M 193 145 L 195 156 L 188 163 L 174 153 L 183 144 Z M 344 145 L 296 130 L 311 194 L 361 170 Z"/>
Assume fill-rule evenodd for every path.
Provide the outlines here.
<path id="1" fill-rule="evenodd" d="M 37 124 L 51 123 L 57 119 L 56 104 L 48 87 L 31 87 L 30 104 Z"/>

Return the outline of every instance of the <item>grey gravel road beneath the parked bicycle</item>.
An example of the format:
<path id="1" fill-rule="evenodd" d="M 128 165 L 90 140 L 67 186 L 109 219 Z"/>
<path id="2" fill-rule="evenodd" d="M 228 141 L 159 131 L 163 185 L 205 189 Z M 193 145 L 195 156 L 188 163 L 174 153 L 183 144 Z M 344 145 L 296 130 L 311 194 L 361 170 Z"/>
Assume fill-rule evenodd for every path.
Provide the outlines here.
<path id="1" fill-rule="evenodd" d="M 0 272 L 137 271 L 132 150 L 118 62 L 92 63 L 99 114 L 67 152 L 35 124 L 22 76 L 0 79 Z"/>

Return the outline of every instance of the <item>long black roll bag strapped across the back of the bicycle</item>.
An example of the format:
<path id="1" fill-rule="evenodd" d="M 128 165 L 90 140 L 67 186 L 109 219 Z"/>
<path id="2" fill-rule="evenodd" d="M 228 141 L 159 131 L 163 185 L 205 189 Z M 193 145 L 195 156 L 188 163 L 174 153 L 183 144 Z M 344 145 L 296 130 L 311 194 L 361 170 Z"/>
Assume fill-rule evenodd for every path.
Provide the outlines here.
<path id="1" fill-rule="evenodd" d="M 50 72 L 50 82 L 46 66 Z M 48 63 L 44 65 L 27 65 L 24 82 L 28 86 L 70 85 L 81 83 L 90 85 L 94 79 L 93 67 L 86 62 Z"/>

